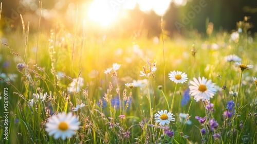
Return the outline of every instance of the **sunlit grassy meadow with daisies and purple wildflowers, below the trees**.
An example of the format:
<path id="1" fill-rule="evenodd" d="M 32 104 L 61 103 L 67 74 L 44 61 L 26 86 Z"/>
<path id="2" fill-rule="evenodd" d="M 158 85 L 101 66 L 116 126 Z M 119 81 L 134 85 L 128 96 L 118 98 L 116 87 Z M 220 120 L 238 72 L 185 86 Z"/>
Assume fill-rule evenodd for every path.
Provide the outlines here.
<path id="1" fill-rule="evenodd" d="M 0 143 L 256 143 L 246 23 L 176 39 L 2 32 Z"/>

